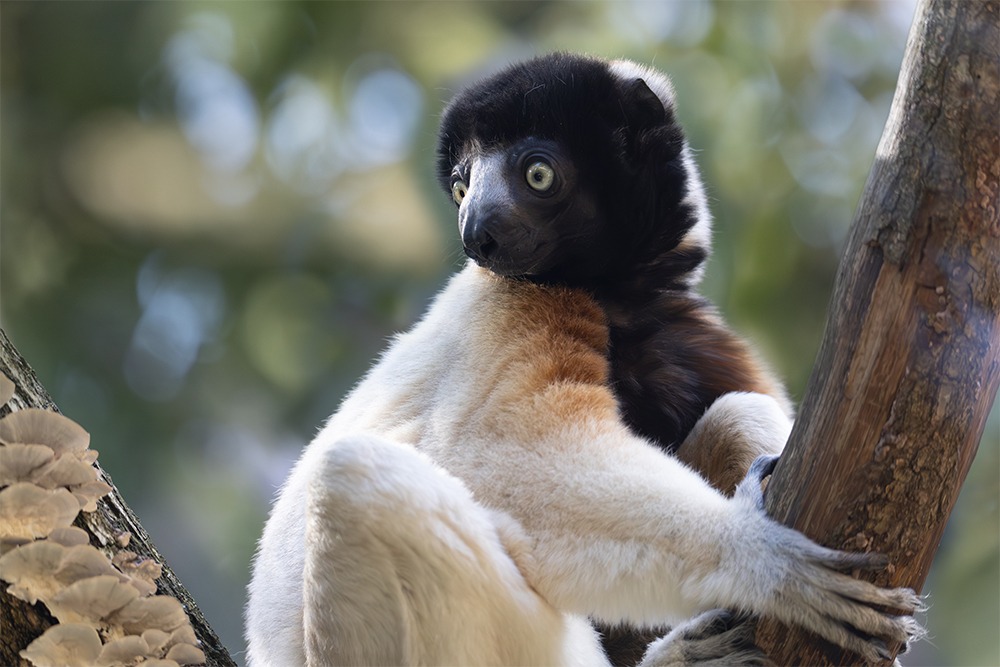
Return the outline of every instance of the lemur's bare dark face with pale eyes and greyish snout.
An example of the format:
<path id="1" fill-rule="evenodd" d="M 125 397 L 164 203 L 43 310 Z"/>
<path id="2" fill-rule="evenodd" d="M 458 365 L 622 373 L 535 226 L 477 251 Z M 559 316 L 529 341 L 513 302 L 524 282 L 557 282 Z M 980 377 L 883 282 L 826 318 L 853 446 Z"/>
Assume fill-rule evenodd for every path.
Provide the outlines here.
<path id="1" fill-rule="evenodd" d="M 596 203 L 566 150 L 525 138 L 464 157 L 451 173 L 465 254 L 503 276 L 544 277 L 593 247 Z"/>

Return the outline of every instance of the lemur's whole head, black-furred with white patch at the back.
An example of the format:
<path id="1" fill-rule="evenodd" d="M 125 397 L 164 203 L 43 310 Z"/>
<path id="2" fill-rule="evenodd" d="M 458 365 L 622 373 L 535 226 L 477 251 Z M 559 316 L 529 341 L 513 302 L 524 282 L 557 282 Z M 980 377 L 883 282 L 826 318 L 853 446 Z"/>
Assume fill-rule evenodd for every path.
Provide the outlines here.
<path id="1" fill-rule="evenodd" d="M 700 276 L 709 214 L 655 70 L 565 53 L 510 66 L 445 109 L 438 178 L 466 254 L 495 273 L 594 287 Z"/>

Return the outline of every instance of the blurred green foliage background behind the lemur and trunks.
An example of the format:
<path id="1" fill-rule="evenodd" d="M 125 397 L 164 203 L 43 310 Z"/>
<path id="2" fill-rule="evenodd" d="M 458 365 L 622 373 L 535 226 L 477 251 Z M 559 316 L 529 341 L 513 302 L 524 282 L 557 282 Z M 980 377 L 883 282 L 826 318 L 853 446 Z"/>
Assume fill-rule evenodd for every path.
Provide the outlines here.
<path id="1" fill-rule="evenodd" d="M 798 397 L 913 5 L 0 4 L 0 323 L 224 642 L 269 501 L 461 263 L 452 91 L 555 49 L 674 79 L 712 200 L 705 289 Z M 916 664 L 1000 664 L 997 410 Z"/>

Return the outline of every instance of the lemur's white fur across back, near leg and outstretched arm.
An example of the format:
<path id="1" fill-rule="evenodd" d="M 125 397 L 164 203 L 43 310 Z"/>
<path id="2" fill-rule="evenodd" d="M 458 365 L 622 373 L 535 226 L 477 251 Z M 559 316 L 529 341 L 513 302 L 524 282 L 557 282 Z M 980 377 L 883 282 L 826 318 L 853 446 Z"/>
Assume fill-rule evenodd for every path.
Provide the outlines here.
<path id="1" fill-rule="evenodd" d="M 830 571 L 753 480 L 727 498 L 632 435 L 606 387 L 545 381 L 573 354 L 533 359 L 558 313 L 525 320 L 512 284 L 458 274 L 309 445 L 254 564 L 250 665 L 599 665 L 583 616 L 719 606 L 846 642 L 824 622 L 889 622 L 842 589 L 910 600 Z"/>

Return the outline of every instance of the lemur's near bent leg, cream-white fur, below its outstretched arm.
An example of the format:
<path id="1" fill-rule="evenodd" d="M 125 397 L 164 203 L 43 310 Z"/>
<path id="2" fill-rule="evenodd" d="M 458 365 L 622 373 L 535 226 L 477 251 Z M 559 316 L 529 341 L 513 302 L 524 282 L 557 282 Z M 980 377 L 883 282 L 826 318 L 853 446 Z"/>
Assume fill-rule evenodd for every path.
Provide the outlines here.
<path id="1" fill-rule="evenodd" d="M 513 519 L 411 447 L 337 442 L 308 504 L 309 665 L 603 661 L 589 625 L 526 583 L 529 550 Z"/>

